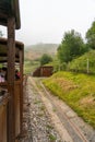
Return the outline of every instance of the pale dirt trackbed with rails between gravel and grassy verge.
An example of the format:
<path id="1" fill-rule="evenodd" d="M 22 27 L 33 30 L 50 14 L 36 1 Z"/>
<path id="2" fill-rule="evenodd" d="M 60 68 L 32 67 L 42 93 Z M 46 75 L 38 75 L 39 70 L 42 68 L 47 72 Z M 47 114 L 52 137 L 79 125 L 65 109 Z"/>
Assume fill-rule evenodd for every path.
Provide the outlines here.
<path id="1" fill-rule="evenodd" d="M 63 141 L 95 142 L 95 131 L 58 97 L 51 95 L 43 85 L 40 79 L 33 79 L 32 83 L 41 96 L 51 120 Z"/>

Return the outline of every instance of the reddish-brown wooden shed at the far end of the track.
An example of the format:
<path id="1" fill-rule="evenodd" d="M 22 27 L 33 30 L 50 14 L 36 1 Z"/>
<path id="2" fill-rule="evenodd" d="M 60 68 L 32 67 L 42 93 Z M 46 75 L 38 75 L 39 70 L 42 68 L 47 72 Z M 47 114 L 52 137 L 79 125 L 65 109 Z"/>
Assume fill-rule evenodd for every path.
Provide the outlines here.
<path id="1" fill-rule="evenodd" d="M 52 66 L 43 66 L 37 68 L 33 72 L 33 76 L 50 76 L 52 75 L 54 67 Z"/>

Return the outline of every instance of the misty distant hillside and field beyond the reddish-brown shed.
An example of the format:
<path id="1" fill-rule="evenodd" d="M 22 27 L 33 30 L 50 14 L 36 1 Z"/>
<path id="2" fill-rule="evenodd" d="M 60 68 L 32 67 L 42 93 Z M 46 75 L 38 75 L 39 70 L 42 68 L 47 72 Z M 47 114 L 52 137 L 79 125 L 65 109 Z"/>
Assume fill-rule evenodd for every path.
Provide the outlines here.
<path id="1" fill-rule="evenodd" d="M 44 54 L 54 56 L 57 52 L 57 44 L 38 44 L 25 47 L 24 73 L 32 73 L 39 67 L 39 58 Z"/>

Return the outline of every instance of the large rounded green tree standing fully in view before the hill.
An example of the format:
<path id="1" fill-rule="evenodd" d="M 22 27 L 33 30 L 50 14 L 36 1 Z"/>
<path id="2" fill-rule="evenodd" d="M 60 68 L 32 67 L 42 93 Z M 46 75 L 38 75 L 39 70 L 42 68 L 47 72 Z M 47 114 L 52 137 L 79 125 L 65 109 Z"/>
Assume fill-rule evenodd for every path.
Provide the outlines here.
<path id="1" fill-rule="evenodd" d="M 74 29 L 66 32 L 58 47 L 58 58 L 61 62 L 69 62 L 85 51 L 81 35 Z"/>

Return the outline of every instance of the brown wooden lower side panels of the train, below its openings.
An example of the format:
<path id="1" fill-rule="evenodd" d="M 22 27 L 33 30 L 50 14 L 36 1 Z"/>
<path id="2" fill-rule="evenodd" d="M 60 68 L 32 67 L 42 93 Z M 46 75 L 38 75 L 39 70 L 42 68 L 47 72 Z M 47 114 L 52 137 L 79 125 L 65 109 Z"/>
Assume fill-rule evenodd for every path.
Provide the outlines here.
<path id="1" fill-rule="evenodd" d="M 7 82 L 0 83 L 2 91 L 9 90 Z M 14 96 L 13 96 L 13 108 L 14 119 L 10 122 L 10 105 L 11 96 L 5 92 L 0 96 L 0 142 L 9 142 L 9 138 L 12 137 L 9 130 L 10 123 L 14 123 L 14 140 L 17 142 L 17 137 L 22 133 L 22 116 L 23 116 L 23 84 L 21 81 L 14 83 Z M 8 127 L 7 127 L 8 126 Z M 11 127 L 11 126 L 10 126 Z"/>

